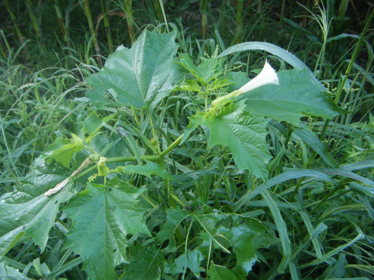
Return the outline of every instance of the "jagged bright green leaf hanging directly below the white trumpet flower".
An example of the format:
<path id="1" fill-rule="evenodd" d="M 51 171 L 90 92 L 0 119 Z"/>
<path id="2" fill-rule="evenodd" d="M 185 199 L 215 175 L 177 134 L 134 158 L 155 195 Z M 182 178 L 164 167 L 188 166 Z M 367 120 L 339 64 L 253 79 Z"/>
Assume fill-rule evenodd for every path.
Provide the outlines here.
<path id="1" fill-rule="evenodd" d="M 237 102 L 201 124 L 211 130 L 208 148 L 216 144 L 228 146 L 237 167 L 248 169 L 256 177 L 267 181 L 267 164 L 271 158 L 265 139 L 268 121 L 251 115 L 245 111 L 243 102 Z"/>

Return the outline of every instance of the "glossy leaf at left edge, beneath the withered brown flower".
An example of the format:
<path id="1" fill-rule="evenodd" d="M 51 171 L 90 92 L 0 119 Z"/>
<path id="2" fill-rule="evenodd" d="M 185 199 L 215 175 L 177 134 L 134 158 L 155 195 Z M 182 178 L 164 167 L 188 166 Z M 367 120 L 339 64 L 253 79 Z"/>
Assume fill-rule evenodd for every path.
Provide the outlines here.
<path id="1" fill-rule="evenodd" d="M 70 173 L 70 169 L 48 163 L 40 156 L 22 185 L 0 197 L 0 255 L 9 251 L 24 234 L 32 237 L 35 244 L 44 250 L 59 203 L 72 195 L 69 192 L 71 184 L 56 195 L 46 197 L 44 193 L 65 180 Z"/>

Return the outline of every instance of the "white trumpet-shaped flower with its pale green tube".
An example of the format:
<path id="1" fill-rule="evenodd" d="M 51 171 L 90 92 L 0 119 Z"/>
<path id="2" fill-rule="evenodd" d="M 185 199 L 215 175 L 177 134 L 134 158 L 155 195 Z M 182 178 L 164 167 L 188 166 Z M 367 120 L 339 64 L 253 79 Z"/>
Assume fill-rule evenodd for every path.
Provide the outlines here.
<path id="1" fill-rule="evenodd" d="M 228 99 L 230 97 L 239 96 L 240 94 L 246 93 L 248 91 L 254 90 L 255 88 L 261 87 L 262 85 L 267 84 L 279 84 L 278 75 L 276 74 L 275 70 L 265 62 L 264 68 L 261 70 L 260 74 L 258 74 L 255 78 L 251 81 L 243 85 L 239 90 L 234 90 L 233 92 L 226 94 L 224 96 L 218 97 L 217 99 L 212 101 L 212 107 L 217 104 L 218 102 Z"/>

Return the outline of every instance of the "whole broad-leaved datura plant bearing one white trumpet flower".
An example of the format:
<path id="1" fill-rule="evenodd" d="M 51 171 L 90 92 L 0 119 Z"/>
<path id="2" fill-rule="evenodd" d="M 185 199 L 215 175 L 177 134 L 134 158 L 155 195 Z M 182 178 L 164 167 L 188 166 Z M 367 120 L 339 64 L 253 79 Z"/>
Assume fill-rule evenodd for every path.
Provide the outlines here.
<path id="1" fill-rule="evenodd" d="M 194 60 L 177 53 L 176 35 L 145 30 L 102 69 L 83 72 L 87 115 L 1 197 L 2 256 L 30 239 L 40 252 L 58 242 L 92 280 L 237 280 L 254 265 L 275 277 L 294 271 L 298 250 L 308 250 L 310 265 L 329 262 L 315 224 L 307 224 L 312 237 L 300 240 L 303 246 L 291 243 L 279 210 L 286 203 L 269 188 L 301 177 L 328 181 L 328 172 L 307 164 L 298 172 L 279 164 L 291 135 L 312 134 L 308 145 L 335 170 L 304 121 L 346 111 L 279 47 L 257 42 L 276 50 L 273 66 L 286 61 L 294 68 L 276 72 L 258 61 L 247 66 L 259 73 L 250 80 L 229 56 L 250 50 L 246 43 Z M 258 195 L 263 200 L 252 203 Z M 274 223 L 264 222 L 264 207 Z M 289 209 L 284 214 L 293 219 Z M 34 268 L 39 278 L 58 277 L 45 263 Z"/>

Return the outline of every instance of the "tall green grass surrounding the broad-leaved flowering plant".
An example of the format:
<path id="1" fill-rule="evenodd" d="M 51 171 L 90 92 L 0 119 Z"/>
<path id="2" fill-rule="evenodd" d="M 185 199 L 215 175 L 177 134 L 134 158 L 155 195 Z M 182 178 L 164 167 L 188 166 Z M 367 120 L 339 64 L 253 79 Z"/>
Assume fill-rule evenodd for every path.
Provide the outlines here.
<path id="1" fill-rule="evenodd" d="M 139 30 L 163 30 L 157 24 L 164 22 L 166 32 L 169 28 L 177 32 L 180 51 L 190 53 L 197 62 L 206 57 L 205 52 L 214 55 L 217 45 L 223 51 L 241 41 L 266 41 L 294 53 L 314 69 L 335 103 L 349 112 L 333 121 L 303 118 L 303 125 L 314 138 L 271 121 L 267 140 L 273 160 L 269 167 L 270 189 L 264 195 L 259 189 L 265 190 L 266 186 L 237 170 L 226 152 L 205 149 L 203 133 L 196 133 L 200 149 L 194 149 L 188 141 L 176 149 L 170 158 L 170 172 L 175 174 L 179 169 L 187 174 L 184 176 L 191 176 L 195 169 L 208 169 L 216 162 L 216 174 L 209 177 L 214 178 L 214 185 L 197 174 L 200 177 L 195 185 L 184 184 L 182 176 L 178 188 L 188 191 L 190 197 L 208 194 L 221 208 L 256 214 L 281 238 L 291 241 L 290 247 L 279 243 L 259 251 L 261 262 L 255 264 L 249 279 L 334 279 L 347 275 L 373 279 L 373 196 L 365 191 L 368 181 L 364 180 L 374 177 L 374 55 L 372 44 L 368 43 L 373 41 L 373 7 L 360 3 L 363 8 L 358 24 L 353 20 L 356 12 L 349 1 L 341 1 L 335 7 L 327 1 L 313 6 L 314 1 L 297 5 L 294 1 L 237 0 L 236 7 L 232 1 L 145 2 L 148 9 L 141 1 L 128 0 L 55 0 L 53 4 L 4 0 L 7 14 L 2 17 L 9 24 L 1 30 L 0 191 L 11 192 L 22 184 L 33 159 L 56 137 L 79 131 L 80 122 L 90 113 L 105 116 L 115 110 L 95 111 L 90 107 L 83 79 L 101 68 L 102 57 L 112 53 L 115 46 L 131 47 Z M 278 14 L 288 21 L 281 22 Z M 100 15 L 104 28 L 95 26 Z M 287 18 L 288 15 L 295 17 Z M 150 25 L 153 16 L 155 26 Z M 352 20 L 344 29 L 347 35 L 334 37 L 338 35 L 332 33 L 337 30 L 334 21 L 349 16 Z M 227 68 L 241 68 L 251 76 L 263 56 L 263 52 L 256 51 L 237 53 L 228 58 Z M 272 59 L 277 69 L 288 68 L 282 60 Z M 164 112 L 148 115 L 137 115 L 131 108 L 121 109 L 123 114 L 118 121 L 132 120 L 149 139 L 162 131 L 160 145 L 166 145 L 175 140 L 175 135 L 164 126 L 172 132 L 183 130 L 188 119 L 182 112 L 193 115 L 204 100 L 178 93 L 167 102 Z M 156 132 L 146 130 L 149 121 Z M 328 167 L 313 152 L 313 145 L 328 151 L 339 168 Z M 325 172 L 329 181 L 312 180 L 299 169 Z M 282 177 L 285 172 L 289 172 L 287 180 Z M 134 184 L 141 187 L 142 183 L 139 179 Z M 148 184 L 157 190 L 156 182 Z M 162 201 L 154 191 L 148 199 L 154 204 L 157 197 Z M 181 195 L 178 199 L 186 198 Z M 59 218 L 51 230 L 48 250 L 43 253 L 31 240 L 22 240 L 1 258 L 20 270 L 28 266 L 28 276 L 36 278 L 39 274 L 29 264 L 39 258 L 51 268 L 52 276 L 86 279 L 80 270 L 82 259 L 71 250 L 62 250 L 64 234 L 70 226 L 71 221 Z M 286 273 L 272 265 L 282 255 L 286 256 Z M 336 277 L 337 274 L 341 276 Z"/>

